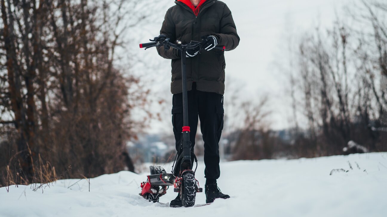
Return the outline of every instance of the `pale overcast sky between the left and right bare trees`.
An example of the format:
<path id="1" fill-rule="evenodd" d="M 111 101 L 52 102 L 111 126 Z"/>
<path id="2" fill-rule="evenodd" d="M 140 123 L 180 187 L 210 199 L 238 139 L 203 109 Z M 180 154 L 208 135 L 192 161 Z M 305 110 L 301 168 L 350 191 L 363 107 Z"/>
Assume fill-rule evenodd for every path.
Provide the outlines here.
<path id="1" fill-rule="evenodd" d="M 167 8 L 175 5 L 173 0 L 163 0 L 164 11 L 154 14 L 152 22 L 139 28 L 136 34 L 145 40 L 157 36 Z M 289 127 L 291 114 L 287 74 L 278 63 L 286 61 L 288 53 L 286 41 L 302 36 L 317 25 L 329 27 L 336 17 L 341 15 L 342 5 L 350 0 L 223 0 L 231 9 L 241 38 L 240 45 L 233 51 L 225 53 L 226 83 L 238 82 L 243 86 L 240 98 L 257 100 L 262 95 L 269 95 L 272 109 L 271 122 L 274 129 Z M 135 43 L 135 44 L 138 44 Z M 157 55 L 156 51 L 135 49 L 134 54 L 150 60 L 146 64 L 134 66 L 137 74 L 148 75 L 152 85 L 154 100 L 165 98 L 162 110 L 163 122 L 152 123 L 152 132 L 169 132 L 171 98 L 170 61 Z M 150 64 L 149 64 L 150 63 Z M 230 90 L 231 91 L 231 90 Z M 229 92 L 226 89 L 225 95 Z M 226 96 L 225 96 L 226 98 Z M 227 112 L 227 111 L 226 111 Z M 168 126 L 167 126 L 168 125 Z"/>

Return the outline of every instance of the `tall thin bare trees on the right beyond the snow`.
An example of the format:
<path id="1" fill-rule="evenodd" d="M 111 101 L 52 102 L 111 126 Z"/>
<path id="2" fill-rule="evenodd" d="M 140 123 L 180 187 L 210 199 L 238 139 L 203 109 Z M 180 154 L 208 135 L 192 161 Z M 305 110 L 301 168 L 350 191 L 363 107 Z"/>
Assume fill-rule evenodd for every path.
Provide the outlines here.
<path id="1" fill-rule="evenodd" d="M 351 140 L 371 151 L 386 148 L 384 132 L 375 130 L 383 124 L 387 105 L 385 3 L 359 2 L 361 10 L 348 10 L 362 29 L 337 18 L 326 33 L 317 28 L 301 39 L 300 80 L 298 85 L 290 81 L 303 96 L 309 123 L 307 134 L 297 139 L 301 149 L 310 150 L 300 149 L 301 156 L 341 154 Z"/>

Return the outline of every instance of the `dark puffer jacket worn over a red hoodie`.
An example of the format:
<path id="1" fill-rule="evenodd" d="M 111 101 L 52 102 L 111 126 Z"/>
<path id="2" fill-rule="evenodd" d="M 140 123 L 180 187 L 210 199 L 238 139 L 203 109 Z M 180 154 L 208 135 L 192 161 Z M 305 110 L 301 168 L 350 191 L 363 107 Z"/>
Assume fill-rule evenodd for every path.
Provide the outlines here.
<path id="1" fill-rule="evenodd" d="M 183 44 L 201 41 L 202 36 L 215 35 L 219 46 L 226 46 L 226 51 L 235 49 L 240 38 L 227 5 L 217 0 L 207 0 L 200 7 L 199 15 L 182 2 L 169 8 L 160 34 L 165 34 L 171 42 L 180 40 Z M 172 59 L 171 92 L 182 92 L 182 62 L 176 49 L 164 51 L 158 47 L 160 56 Z M 187 58 L 187 90 L 192 89 L 192 82 L 197 83 L 197 90 L 224 94 L 224 52 L 212 49 L 202 51 L 192 58 Z"/>

